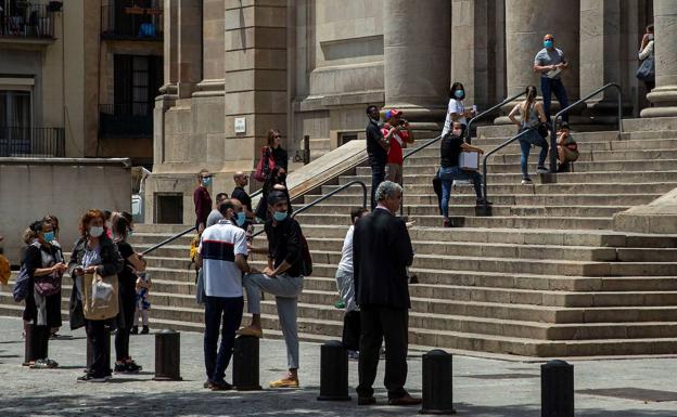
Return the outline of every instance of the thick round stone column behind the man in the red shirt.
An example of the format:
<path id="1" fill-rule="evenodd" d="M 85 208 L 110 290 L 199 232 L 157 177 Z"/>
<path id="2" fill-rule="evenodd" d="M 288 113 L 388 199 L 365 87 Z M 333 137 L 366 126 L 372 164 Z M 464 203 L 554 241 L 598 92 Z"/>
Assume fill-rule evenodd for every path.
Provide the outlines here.
<path id="1" fill-rule="evenodd" d="M 386 107 L 417 121 L 444 121 L 449 95 L 451 2 L 383 2 Z"/>

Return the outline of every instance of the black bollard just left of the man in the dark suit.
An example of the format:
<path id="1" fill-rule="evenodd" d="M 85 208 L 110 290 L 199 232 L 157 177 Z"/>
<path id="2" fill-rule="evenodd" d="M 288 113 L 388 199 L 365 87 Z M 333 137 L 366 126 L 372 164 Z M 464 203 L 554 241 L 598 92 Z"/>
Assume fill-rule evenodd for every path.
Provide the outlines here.
<path id="1" fill-rule="evenodd" d="M 338 340 L 320 347 L 320 396 L 318 401 L 350 401 L 348 351 Z"/>

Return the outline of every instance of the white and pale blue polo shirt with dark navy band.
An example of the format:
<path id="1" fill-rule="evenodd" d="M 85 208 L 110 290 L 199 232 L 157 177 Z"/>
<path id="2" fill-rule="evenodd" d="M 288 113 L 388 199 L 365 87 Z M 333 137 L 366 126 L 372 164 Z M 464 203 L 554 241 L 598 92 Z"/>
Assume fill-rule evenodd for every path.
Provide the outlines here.
<path id="1" fill-rule="evenodd" d="M 235 256 L 247 255 L 246 233 L 228 220 L 205 229 L 197 249 L 203 259 L 205 294 L 242 297 L 242 273 Z"/>

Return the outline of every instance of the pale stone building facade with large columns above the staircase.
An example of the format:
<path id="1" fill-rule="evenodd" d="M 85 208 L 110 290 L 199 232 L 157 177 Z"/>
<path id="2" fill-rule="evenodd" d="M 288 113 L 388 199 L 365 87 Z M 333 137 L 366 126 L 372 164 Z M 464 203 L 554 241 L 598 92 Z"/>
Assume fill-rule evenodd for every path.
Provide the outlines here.
<path id="1" fill-rule="evenodd" d="M 146 219 L 190 223 L 196 172 L 216 172 L 214 188 L 230 190 L 230 174 L 254 168 L 270 128 L 281 130 L 296 160 L 304 136 L 314 156 L 363 139 L 367 104 L 396 106 L 418 130 L 435 134 L 454 81 L 465 86 L 467 105 L 480 109 L 538 84 L 532 65 L 548 32 L 571 63 L 563 77 L 570 102 L 616 82 L 626 115 L 639 116 L 649 102 L 635 78 L 638 48 L 655 21 L 657 86 L 642 116 L 674 114 L 676 6 L 667 0 L 165 0 Z M 572 121 L 604 126 L 614 120 L 614 91 L 602 92 Z M 495 122 L 506 121 L 496 115 Z M 163 204 L 180 208 L 169 212 Z"/>

